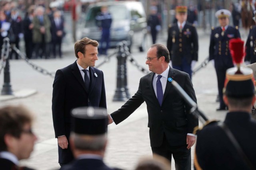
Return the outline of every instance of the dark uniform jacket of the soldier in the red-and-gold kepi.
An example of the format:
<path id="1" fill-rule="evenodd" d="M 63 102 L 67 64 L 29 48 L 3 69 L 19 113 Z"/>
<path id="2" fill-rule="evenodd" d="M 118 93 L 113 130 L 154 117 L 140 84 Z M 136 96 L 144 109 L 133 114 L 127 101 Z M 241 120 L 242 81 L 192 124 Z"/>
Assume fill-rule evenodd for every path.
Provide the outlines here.
<path id="1" fill-rule="evenodd" d="M 170 60 L 174 65 L 181 65 L 183 57 L 188 64 L 191 61 L 198 61 L 198 35 L 196 27 L 186 22 L 180 33 L 178 23 L 174 23 L 168 29 L 167 48 L 170 53 Z"/>

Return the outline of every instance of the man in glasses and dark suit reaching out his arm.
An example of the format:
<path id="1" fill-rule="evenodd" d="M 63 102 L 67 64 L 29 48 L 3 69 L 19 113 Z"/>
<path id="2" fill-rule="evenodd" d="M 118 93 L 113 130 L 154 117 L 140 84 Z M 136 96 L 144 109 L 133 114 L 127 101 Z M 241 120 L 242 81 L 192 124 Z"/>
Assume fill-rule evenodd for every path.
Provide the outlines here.
<path id="1" fill-rule="evenodd" d="M 162 44 L 150 47 L 146 57 L 149 74 L 140 78 L 138 91 L 120 109 L 109 115 L 109 123 L 118 124 L 129 117 L 143 102 L 148 110 L 150 146 L 153 153 L 172 156 L 176 170 L 191 170 L 191 147 L 198 119 L 190 114 L 191 106 L 172 85 L 175 80 L 196 102 L 196 95 L 186 72 L 169 66 L 168 49 Z"/>

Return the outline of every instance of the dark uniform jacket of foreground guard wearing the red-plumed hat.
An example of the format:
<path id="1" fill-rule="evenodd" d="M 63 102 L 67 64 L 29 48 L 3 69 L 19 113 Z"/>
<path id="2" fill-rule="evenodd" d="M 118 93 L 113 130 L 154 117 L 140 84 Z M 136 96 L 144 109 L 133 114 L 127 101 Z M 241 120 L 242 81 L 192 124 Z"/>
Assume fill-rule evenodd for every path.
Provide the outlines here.
<path id="1" fill-rule="evenodd" d="M 225 124 L 256 168 L 256 122 L 246 112 L 227 113 Z M 226 133 L 216 123 L 197 133 L 196 155 L 205 170 L 249 170 Z"/>

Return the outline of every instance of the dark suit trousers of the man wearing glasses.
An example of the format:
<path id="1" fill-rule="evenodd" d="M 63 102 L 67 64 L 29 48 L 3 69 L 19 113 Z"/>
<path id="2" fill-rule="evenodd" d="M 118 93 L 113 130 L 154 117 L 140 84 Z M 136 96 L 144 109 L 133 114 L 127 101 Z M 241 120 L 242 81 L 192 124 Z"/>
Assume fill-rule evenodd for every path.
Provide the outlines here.
<path id="1" fill-rule="evenodd" d="M 166 136 L 164 135 L 163 143 L 160 147 L 151 147 L 152 152 L 175 161 L 176 170 L 191 170 L 191 149 L 187 149 L 187 145 L 170 146 Z"/>

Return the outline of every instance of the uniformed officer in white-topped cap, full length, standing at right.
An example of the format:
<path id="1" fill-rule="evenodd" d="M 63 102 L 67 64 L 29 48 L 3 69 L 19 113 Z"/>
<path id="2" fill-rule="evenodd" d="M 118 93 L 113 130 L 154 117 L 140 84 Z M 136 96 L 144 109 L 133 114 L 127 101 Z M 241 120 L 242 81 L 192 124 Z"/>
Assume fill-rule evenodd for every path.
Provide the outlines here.
<path id="1" fill-rule="evenodd" d="M 229 51 L 229 40 L 232 38 L 240 38 L 238 27 L 229 26 L 229 16 L 231 12 L 225 9 L 218 10 L 215 16 L 218 18 L 220 26 L 212 28 L 210 37 L 209 60 L 214 61 L 214 66 L 218 80 L 218 91 L 220 99 L 219 110 L 226 110 L 227 107 L 223 102 L 222 89 L 226 78 L 226 70 L 234 66 Z"/>

